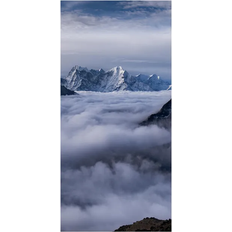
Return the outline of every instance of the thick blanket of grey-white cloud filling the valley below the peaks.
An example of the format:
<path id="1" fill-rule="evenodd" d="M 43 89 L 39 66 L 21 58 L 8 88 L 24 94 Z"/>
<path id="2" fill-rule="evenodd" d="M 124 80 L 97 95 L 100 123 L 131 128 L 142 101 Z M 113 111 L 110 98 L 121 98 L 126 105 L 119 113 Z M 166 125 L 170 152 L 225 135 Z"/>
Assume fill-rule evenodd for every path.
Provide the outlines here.
<path id="1" fill-rule="evenodd" d="M 79 93 L 61 98 L 61 229 L 171 218 L 170 131 L 138 126 L 171 92 Z"/>

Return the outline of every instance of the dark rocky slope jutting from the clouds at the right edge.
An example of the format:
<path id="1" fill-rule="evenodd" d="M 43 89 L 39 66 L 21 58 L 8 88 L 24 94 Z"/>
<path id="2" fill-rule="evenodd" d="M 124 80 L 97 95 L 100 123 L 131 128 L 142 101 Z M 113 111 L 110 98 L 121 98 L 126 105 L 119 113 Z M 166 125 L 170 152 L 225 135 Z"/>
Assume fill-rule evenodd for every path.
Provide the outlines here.
<path id="1" fill-rule="evenodd" d="M 171 128 L 171 99 L 157 113 L 150 115 L 145 121 L 140 123 L 141 126 L 151 124 L 156 124 L 166 129 Z"/>

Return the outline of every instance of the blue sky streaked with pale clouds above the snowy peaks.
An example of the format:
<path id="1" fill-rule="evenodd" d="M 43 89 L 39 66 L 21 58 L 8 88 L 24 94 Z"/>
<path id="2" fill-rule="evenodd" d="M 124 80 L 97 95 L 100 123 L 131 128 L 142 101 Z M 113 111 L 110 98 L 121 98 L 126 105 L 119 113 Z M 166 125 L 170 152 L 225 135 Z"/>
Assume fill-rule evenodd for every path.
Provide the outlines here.
<path id="1" fill-rule="evenodd" d="M 171 78 L 170 1 L 62 1 L 61 75 L 74 65 Z"/>

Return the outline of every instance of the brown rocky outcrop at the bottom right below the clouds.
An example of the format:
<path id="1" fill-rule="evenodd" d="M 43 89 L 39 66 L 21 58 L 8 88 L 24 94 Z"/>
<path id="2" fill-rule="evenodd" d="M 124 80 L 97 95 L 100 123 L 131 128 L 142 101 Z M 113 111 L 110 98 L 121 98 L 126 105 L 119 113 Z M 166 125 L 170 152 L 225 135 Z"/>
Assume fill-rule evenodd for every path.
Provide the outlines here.
<path id="1" fill-rule="evenodd" d="M 115 231 L 171 231 L 171 219 L 160 220 L 147 217 L 131 225 L 123 225 Z"/>

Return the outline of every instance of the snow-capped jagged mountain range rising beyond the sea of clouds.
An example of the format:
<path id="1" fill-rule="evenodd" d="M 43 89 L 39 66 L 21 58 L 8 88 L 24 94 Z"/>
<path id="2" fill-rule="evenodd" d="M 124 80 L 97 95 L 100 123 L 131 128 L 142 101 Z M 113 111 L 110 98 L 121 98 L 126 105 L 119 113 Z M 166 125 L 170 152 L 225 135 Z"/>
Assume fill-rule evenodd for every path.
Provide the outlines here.
<path id="1" fill-rule="evenodd" d="M 61 78 L 61 85 L 72 91 L 160 91 L 171 89 L 171 83 L 156 74 L 136 76 L 130 75 L 121 66 L 108 71 L 94 70 L 81 66 L 74 66 L 65 78 Z"/>

